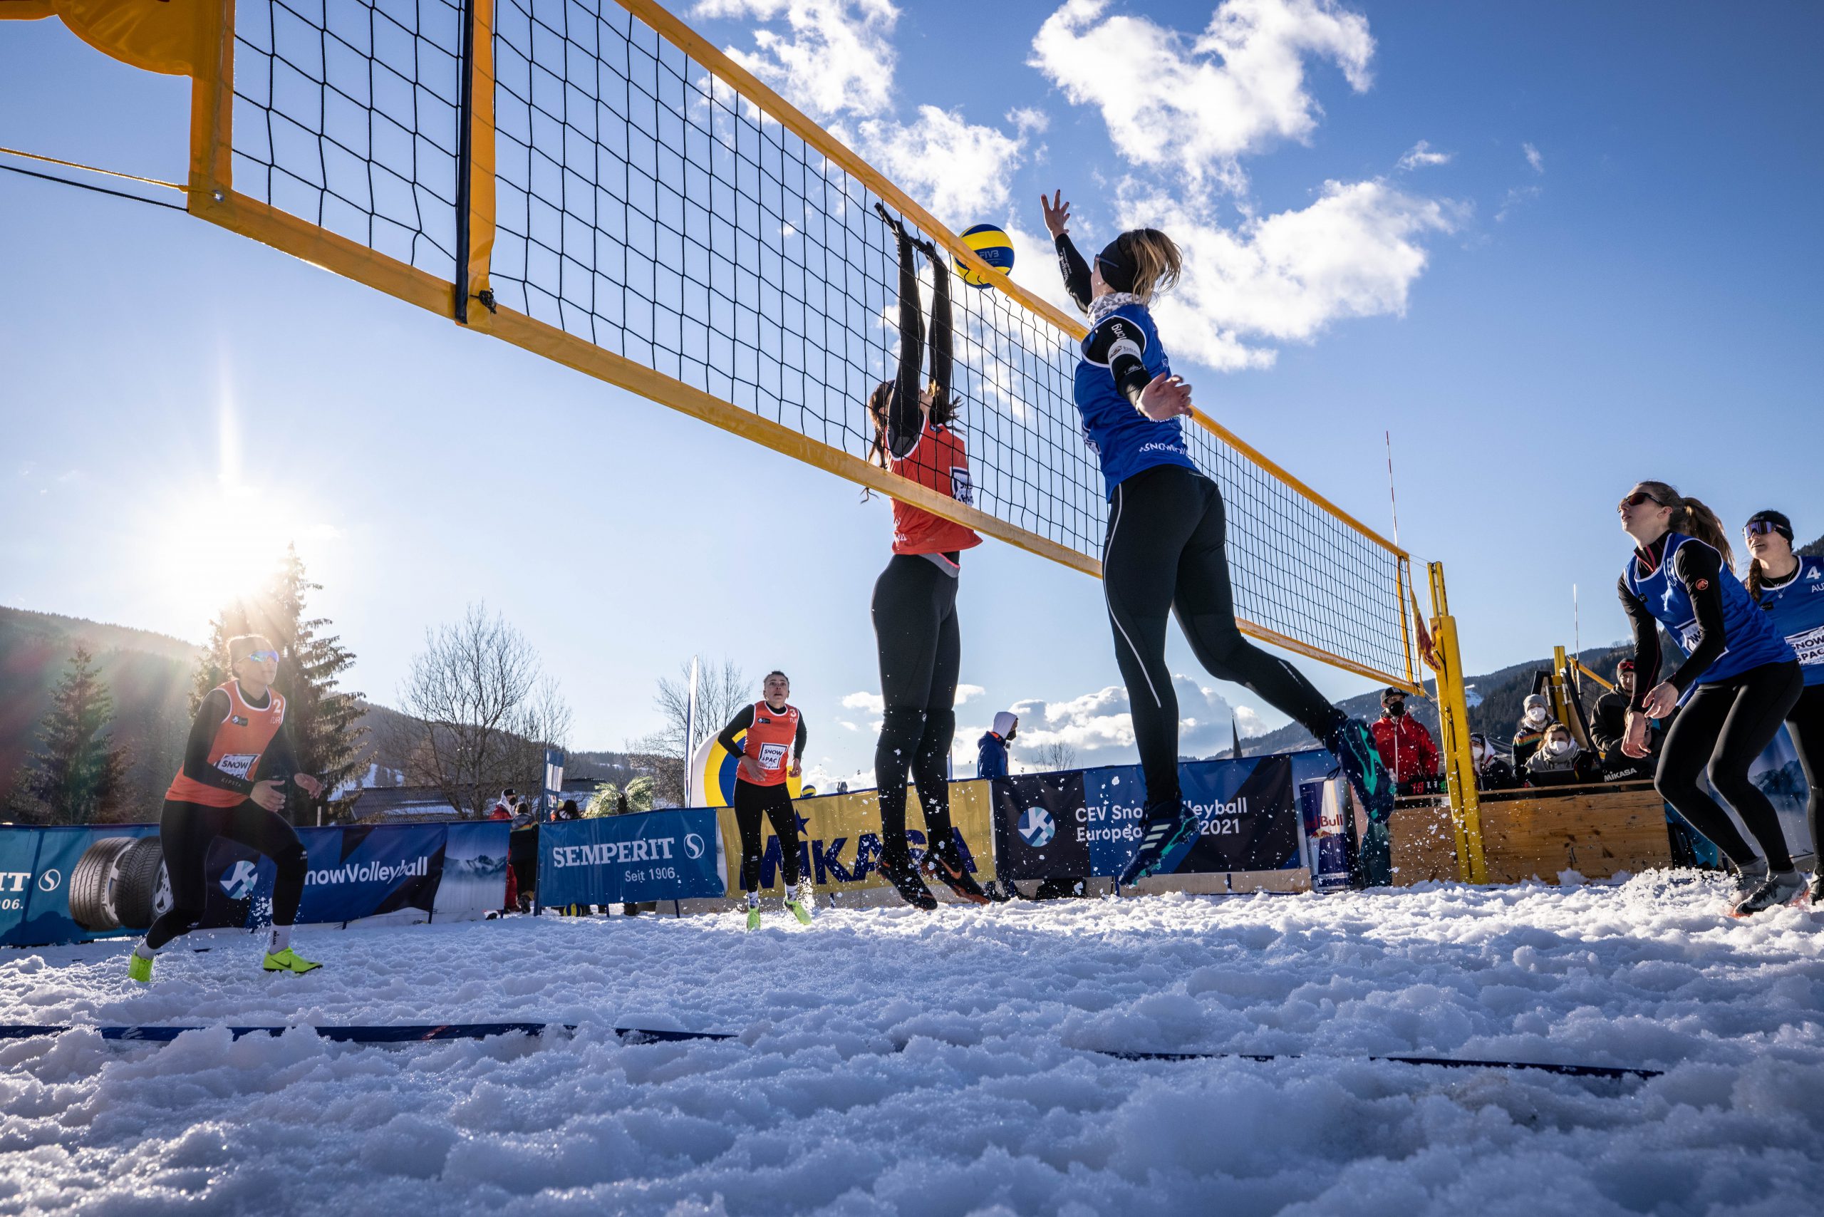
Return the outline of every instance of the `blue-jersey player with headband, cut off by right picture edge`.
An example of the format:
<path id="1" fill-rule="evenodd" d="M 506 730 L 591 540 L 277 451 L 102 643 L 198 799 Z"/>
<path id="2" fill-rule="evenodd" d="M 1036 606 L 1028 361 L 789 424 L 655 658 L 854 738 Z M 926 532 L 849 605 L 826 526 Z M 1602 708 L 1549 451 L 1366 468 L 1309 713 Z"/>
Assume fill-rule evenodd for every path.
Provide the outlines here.
<path id="1" fill-rule="evenodd" d="M 1806 774 L 1806 827 L 1811 830 L 1811 903 L 1824 905 L 1824 556 L 1793 553 L 1793 522 L 1778 511 L 1757 511 L 1742 529 L 1747 538 L 1747 595 L 1767 611 L 1773 629 L 1798 655 L 1806 690 L 1786 715 L 1786 728 Z"/>

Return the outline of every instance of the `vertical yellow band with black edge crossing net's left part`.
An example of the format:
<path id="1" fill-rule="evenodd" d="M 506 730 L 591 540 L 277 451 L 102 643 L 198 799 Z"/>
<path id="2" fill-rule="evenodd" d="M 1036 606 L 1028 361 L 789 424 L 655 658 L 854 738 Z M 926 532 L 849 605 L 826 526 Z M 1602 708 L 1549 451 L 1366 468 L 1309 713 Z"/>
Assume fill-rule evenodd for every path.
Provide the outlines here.
<path id="1" fill-rule="evenodd" d="M 461 100 L 456 117 L 456 323 L 491 330 L 494 292 L 494 0 L 463 0 Z M 476 301 L 487 312 L 469 316 Z"/>

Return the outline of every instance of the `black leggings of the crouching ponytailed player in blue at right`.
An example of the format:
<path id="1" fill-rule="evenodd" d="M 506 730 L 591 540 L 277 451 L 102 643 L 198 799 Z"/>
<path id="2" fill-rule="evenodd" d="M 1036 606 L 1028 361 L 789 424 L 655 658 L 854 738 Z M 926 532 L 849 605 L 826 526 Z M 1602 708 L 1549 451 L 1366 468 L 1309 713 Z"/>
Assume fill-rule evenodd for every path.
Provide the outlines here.
<path id="1" fill-rule="evenodd" d="M 1698 785 L 1698 775 L 1707 765 L 1716 794 L 1760 841 L 1767 869 L 1791 870 L 1793 856 L 1786 848 L 1780 814 L 1747 770 L 1773 743 L 1802 688 L 1797 661 L 1749 668 L 1727 681 L 1698 684 L 1665 732 L 1654 790 L 1738 867 L 1755 861 L 1755 850 L 1736 832 L 1729 814 Z"/>

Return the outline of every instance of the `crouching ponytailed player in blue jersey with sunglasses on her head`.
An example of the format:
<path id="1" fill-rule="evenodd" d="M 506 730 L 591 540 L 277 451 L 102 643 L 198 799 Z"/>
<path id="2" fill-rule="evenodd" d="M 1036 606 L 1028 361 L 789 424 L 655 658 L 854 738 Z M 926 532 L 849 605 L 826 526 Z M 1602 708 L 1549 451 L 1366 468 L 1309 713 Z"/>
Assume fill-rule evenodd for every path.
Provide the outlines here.
<path id="1" fill-rule="evenodd" d="M 1663 482 L 1636 482 L 1618 511 L 1636 546 L 1616 584 L 1634 628 L 1636 692 L 1622 752 L 1645 757 L 1647 719 L 1678 708 L 1660 746 L 1654 788 L 1740 870 L 1747 890 L 1736 916 L 1784 905 L 1804 890 L 1804 879 L 1793 869 L 1778 812 L 1747 770 L 1798 701 L 1798 659 L 1729 569 L 1729 538 L 1715 511 Z M 1665 681 L 1660 626 L 1685 655 Z M 1762 858 L 1698 785 L 1705 765 L 1711 786 L 1755 834 Z"/>

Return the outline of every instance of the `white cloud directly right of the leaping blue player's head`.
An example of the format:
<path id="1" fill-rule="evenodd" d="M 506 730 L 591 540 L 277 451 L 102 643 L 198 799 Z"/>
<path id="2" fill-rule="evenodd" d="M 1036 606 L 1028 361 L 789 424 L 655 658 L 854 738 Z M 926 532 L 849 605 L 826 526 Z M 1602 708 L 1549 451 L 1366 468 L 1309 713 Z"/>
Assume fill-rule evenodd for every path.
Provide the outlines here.
<path id="1" fill-rule="evenodd" d="M 1459 208 L 1386 182 L 1324 182 L 1308 208 L 1224 228 L 1195 199 L 1122 199 L 1122 226 L 1164 228 L 1184 277 L 1153 312 L 1175 350 L 1213 369 L 1268 367 L 1248 339 L 1310 341 L 1339 317 L 1403 314 L 1425 270 L 1419 239 L 1450 232 Z"/>

